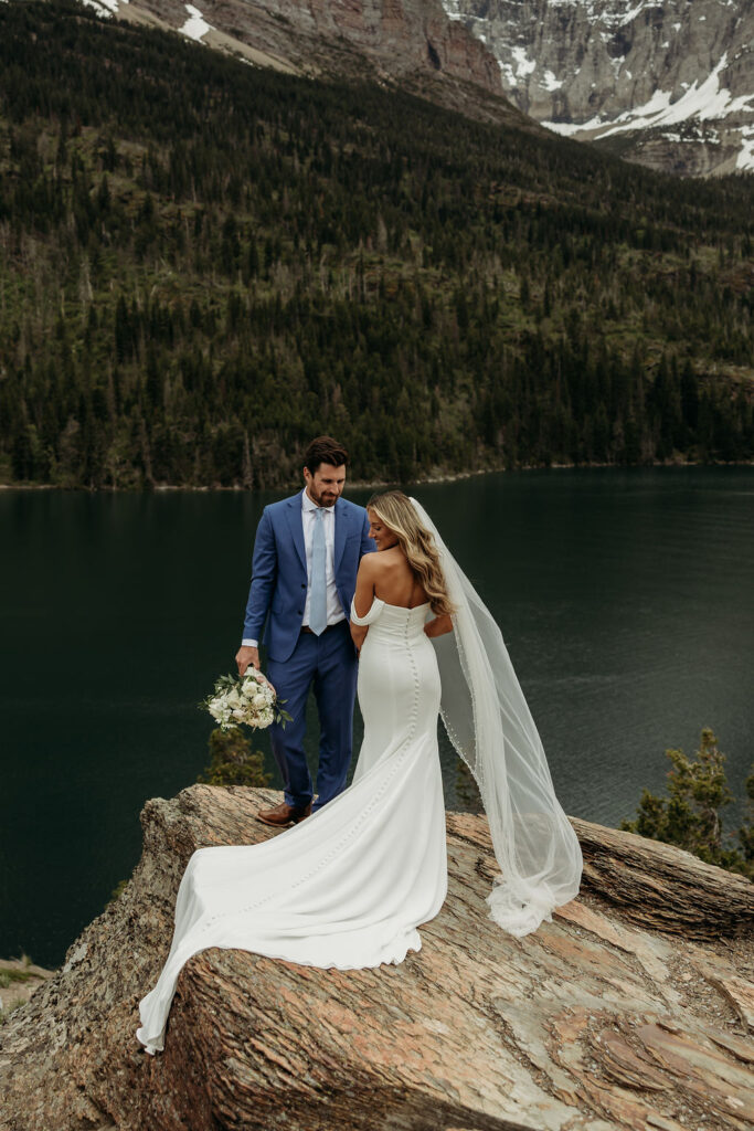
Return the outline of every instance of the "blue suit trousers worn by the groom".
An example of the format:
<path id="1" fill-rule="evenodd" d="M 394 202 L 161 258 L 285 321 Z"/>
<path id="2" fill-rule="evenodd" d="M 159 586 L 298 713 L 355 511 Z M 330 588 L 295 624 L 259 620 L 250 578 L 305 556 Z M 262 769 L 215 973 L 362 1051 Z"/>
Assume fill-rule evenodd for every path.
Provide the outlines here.
<path id="1" fill-rule="evenodd" d="M 288 805 L 307 805 L 314 794 L 304 753 L 306 700 L 313 685 L 320 717 L 320 761 L 314 809 L 345 788 L 353 743 L 354 699 L 358 661 L 348 621 L 317 637 L 302 632 L 284 663 L 271 658 L 267 676 L 293 722 L 270 727 L 272 753 L 283 776 Z"/>

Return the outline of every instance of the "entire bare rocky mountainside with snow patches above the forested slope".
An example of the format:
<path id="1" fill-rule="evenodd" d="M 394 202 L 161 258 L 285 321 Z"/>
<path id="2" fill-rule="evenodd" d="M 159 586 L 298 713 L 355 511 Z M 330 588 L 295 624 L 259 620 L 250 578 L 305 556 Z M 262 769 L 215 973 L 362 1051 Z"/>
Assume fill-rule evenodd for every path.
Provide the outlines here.
<path id="1" fill-rule="evenodd" d="M 751 0 L 85 0 L 249 62 L 400 83 L 684 175 L 754 170 Z M 518 118 L 518 124 L 521 124 Z"/>

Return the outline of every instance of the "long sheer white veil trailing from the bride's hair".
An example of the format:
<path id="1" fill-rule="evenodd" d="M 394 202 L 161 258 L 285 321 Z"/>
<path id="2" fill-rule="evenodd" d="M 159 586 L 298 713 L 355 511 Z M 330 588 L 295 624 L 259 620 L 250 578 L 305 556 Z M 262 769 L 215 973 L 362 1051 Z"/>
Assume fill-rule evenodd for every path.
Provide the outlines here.
<path id="1" fill-rule="evenodd" d="M 549 775 L 541 740 L 503 637 L 478 593 L 416 499 L 432 532 L 454 631 L 435 639 L 440 714 L 482 794 L 501 875 L 487 897 L 492 918 L 511 934 L 536 931 L 579 891 L 582 857 Z"/>

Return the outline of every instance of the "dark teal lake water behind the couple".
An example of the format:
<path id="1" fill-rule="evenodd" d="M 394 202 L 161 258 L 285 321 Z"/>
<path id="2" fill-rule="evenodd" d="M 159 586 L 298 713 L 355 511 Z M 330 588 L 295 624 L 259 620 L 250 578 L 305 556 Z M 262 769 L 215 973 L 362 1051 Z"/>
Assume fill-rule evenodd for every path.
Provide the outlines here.
<path id="1" fill-rule="evenodd" d="M 743 795 L 754 468 L 521 472 L 414 493 L 502 627 L 567 813 L 631 815 L 642 786 L 662 787 L 662 751 L 695 750 L 704 725 Z M 205 766 L 196 703 L 233 670 L 272 498 L 0 492 L 0 956 L 59 964 L 136 864 L 144 802 Z M 447 741 L 442 759 L 452 808 Z M 740 806 L 728 812 L 730 827 Z"/>

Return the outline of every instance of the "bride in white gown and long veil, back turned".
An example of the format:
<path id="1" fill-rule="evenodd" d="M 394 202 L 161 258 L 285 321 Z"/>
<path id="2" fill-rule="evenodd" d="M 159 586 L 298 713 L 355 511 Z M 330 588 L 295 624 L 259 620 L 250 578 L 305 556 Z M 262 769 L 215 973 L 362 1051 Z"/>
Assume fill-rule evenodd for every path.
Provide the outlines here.
<path id="1" fill-rule="evenodd" d="M 491 916 L 522 936 L 577 895 L 581 852 L 500 629 L 430 516 L 400 491 L 367 504 L 378 553 L 352 604 L 364 741 L 349 788 L 258 845 L 200 848 L 137 1037 L 164 1047 L 182 966 L 209 947 L 304 966 L 401 962 L 448 888 L 437 715 L 479 786 L 501 869 Z"/>

